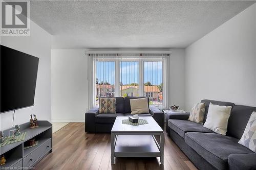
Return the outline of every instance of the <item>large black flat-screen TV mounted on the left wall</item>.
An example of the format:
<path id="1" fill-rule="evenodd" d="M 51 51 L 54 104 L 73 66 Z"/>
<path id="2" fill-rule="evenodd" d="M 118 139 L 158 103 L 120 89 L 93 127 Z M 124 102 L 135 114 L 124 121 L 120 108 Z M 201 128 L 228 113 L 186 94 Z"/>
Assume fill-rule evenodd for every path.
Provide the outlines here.
<path id="1" fill-rule="evenodd" d="M 38 61 L 1 45 L 1 113 L 34 105 Z"/>

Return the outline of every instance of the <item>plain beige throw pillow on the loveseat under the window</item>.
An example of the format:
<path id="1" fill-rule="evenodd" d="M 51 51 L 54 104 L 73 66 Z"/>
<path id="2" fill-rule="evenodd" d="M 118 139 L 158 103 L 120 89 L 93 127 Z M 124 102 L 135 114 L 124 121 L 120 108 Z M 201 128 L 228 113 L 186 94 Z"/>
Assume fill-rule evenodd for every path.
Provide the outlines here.
<path id="1" fill-rule="evenodd" d="M 130 99 L 131 114 L 148 113 L 147 98 Z"/>

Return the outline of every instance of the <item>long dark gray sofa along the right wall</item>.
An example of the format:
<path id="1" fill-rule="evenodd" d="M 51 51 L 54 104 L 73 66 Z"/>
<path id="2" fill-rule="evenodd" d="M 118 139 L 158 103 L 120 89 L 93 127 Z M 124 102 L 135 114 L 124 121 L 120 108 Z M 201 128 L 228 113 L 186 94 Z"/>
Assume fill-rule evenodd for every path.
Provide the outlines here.
<path id="1" fill-rule="evenodd" d="M 210 102 L 232 106 L 226 136 L 189 122 L 189 113 L 169 115 L 166 126 L 169 136 L 199 169 L 256 169 L 256 153 L 238 143 L 256 107 L 211 100 L 203 102 L 206 104 L 204 122 Z"/>

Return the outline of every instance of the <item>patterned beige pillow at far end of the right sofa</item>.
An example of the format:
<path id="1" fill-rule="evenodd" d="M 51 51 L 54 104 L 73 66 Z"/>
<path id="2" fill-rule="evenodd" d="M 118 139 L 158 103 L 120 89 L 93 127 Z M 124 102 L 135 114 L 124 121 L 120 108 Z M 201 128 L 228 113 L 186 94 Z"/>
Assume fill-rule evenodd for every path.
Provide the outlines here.
<path id="1" fill-rule="evenodd" d="M 197 103 L 190 111 L 188 120 L 191 122 L 203 124 L 205 103 Z"/>

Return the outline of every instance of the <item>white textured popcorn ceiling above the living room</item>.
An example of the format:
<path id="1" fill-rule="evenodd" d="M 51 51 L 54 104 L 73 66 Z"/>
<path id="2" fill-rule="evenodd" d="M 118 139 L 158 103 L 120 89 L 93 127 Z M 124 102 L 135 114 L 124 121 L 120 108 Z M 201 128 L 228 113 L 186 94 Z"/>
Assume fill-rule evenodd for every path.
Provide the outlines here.
<path id="1" fill-rule="evenodd" d="M 53 48 L 180 48 L 255 1 L 31 1 Z"/>

